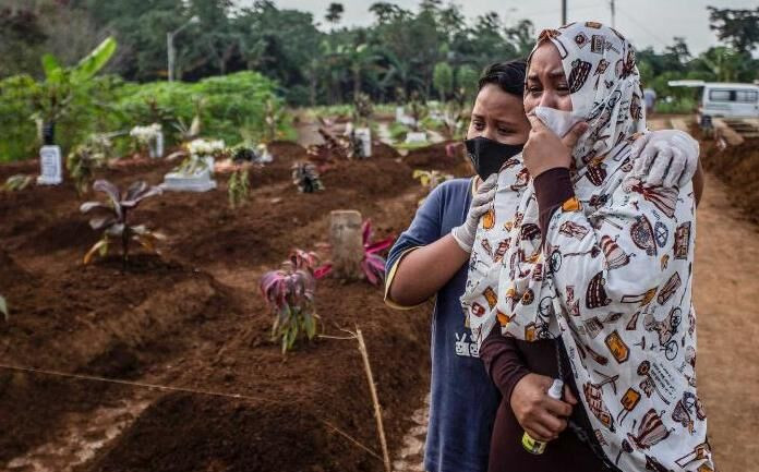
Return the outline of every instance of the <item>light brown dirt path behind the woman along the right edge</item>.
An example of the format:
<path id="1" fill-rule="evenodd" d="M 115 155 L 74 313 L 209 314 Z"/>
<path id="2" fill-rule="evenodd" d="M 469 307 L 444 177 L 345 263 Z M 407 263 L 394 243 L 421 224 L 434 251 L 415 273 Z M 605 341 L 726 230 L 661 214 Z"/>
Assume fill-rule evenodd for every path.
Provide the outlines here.
<path id="1" fill-rule="evenodd" d="M 759 471 L 759 228 L 709 174 L 697 217 L 697 368 L 709 436 L 719 470 Z"/>

